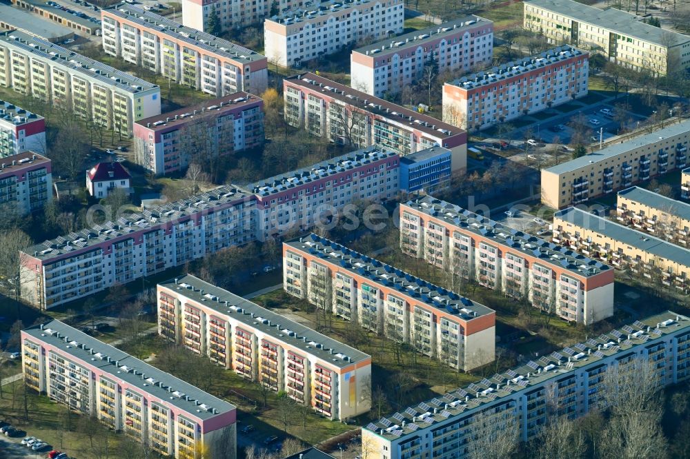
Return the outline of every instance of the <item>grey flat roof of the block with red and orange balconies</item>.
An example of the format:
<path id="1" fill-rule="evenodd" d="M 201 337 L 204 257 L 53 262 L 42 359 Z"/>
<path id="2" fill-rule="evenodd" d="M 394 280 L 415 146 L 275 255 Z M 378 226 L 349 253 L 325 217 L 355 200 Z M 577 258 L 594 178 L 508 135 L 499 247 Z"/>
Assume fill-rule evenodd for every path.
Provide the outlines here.
<path id="1" fill-rule="evenodd" d="M 320 358 L 329 365 L 344 368 L 371 358 L 354 347 L 328 338 L 294 320 L 190 274 L 161 282 L 158 285 L 175 290 L 178 294 L 210 307 L 223 316 L 239 320 L 247 327 L 257 329 L 276 341 L 300 349 L 305 354 Z"/>

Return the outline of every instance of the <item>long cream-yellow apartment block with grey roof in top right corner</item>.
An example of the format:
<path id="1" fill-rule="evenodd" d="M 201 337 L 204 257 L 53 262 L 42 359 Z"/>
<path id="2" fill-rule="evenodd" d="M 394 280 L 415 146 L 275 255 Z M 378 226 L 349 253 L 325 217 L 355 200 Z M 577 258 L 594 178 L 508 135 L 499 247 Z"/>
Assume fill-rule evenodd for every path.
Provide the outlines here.
<path id="1" fill-rule="evenodd" d="M 651 26 L 642 19 L 573 0 L 524 2 L 524 28 L 544 34 L 551 43 L 596 50 L 609 61 L 656 75 L 688 68 L 690 36 Z"/>

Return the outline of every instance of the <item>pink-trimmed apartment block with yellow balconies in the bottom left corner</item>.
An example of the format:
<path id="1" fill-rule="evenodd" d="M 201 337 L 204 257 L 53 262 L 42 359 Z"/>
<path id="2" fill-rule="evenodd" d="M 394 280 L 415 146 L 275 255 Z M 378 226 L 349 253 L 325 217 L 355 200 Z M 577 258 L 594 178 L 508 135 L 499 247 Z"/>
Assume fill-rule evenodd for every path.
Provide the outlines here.
<path id="1" fill-rule="evenodd" d="M 237 457 L 237 409 L 59 320 L 21 331 L 24 382 L 166 457 Z"/>

